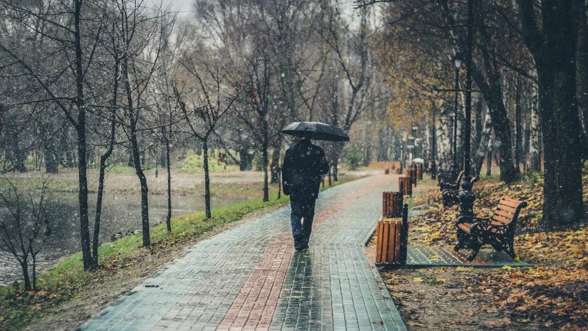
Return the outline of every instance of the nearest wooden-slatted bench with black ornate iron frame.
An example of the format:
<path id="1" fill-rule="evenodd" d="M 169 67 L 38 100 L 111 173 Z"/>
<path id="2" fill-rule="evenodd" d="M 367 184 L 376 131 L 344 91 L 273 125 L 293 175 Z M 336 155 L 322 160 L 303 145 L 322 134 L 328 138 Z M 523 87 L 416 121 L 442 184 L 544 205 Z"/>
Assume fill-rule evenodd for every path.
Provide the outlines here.
<path id="1" fill-rule="evenodd" d="M 457 219 L 457 243 L 455 251 L 472 249 L 467 260 L 476 258 L 480 247 L 489 244 L 496 251 L 505 251 L 513 259 L 515 254 L 515 229 L 520 210 L 527 207 L 526 201 L 504 197 L 500 199 L 496 211 L 487 219 L 461 216 Z"/>

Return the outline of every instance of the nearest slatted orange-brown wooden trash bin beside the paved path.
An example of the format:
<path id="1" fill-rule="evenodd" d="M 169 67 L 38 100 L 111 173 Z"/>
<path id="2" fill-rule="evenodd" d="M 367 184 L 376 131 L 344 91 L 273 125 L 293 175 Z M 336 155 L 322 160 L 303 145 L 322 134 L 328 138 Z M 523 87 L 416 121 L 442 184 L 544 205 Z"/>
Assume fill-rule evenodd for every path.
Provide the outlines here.
<path id="1" fill-rule="evenodd" d="M 408 206 L 402 208 L 402 217 L 382 217 L 376 227 L 376 264 L 405 266 L 408 247 Z"/>

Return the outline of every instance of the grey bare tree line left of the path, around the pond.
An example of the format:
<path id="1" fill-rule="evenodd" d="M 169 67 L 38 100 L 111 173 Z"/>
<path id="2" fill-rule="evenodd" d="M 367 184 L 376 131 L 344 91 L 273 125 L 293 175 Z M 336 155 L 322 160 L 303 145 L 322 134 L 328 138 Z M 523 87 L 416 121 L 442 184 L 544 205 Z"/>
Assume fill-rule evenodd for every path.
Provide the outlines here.
<path id="1" fill-rule="evenodd" d="M 260 155 L 268 201 L 292 141 L 280 130 L 290 121 L 362 131 L 359 123 L 371 118 L 384 123 L 378 130 L 392 130 L 378 119 L 386 117 L 388 96 L 373 75 L 377 31 L 369 8 L 352 19 L 328 0 L 196 0 L 185 15 L 142 0 L 0 0 L 0 8 L 2 172 L 30 171 L 31 164 L 46 173 L 77 171 L 85 270 L 99 264 L 104 182 L 115 164 L 135 171 L 149 246 L 149 164 L 166 168 L 172 231 L 173 153 L 203 155 L 205 213 L 212 217 L 208 162 L 215 151 L 243 169 L 252 152 Z M 369 136 L 362 141 L 376 138 Z M 380 145 L 380 156 L 390 157 L 389 145 Z M 336 181 L 345 150 L 323 147 L 329 182 Z M 92 167 L 95 196 L 88 193 Z M 15 202 L 7 196 L 5 203 Z M 41 201 L 33 205 L 42 208 Z M 42 214 L 37 219 L 42 224 Z M 20 254 L 21 264 L 29 253 Z"/>

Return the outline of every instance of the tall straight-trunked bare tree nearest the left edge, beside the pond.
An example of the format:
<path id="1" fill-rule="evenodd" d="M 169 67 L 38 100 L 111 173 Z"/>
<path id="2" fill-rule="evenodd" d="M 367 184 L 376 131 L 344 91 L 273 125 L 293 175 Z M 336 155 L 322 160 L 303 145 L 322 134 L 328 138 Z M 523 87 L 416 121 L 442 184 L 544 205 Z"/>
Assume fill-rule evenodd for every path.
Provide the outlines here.
<path id="1" fill-rule="evenodd" d="M 54 102 L 64 112 L 69 123 L 75 128 L 78 149 L 78 202 L 80 217 L 80 235 L 83 266 L 91 269 L 92 252 L 90 247 L 90 233 L 88 221 L 88 162 L 86 139 L 87 96 L 85 82 L 88 68 L 92 64 L 95 49 L 103 31 L 100 15 L 88 15 L 95 11 L 93 1 L 73 0 L 71 5 L 64 2 L 44 6 L 44 4 L 27 6 L 25 2 L 1 0 L 0 4 L 8 9 L 9 16 L 17 25 L 31 28 L 42 38 L 51 41 L 57 51 L 51 57 L 44 57 L 56 67 L 39 68 L 38 63 L 29 62 L 24 55 L 4 43 L 0 44 L 0 51 L 14 59 L 24 75 L 31 78 L 41 99 L 27 100 L 25 103 Z M 35 19 L 38 25 L 31 25 Z M 64 86 L 73 85 L 74 91 Z"/>

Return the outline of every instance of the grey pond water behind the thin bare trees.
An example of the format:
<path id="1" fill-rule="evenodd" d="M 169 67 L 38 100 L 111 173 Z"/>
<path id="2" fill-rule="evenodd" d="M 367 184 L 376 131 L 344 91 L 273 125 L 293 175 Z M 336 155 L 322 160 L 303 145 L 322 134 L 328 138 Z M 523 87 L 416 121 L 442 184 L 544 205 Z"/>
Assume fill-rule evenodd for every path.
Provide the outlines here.
<path id="1" fill-rule="evenodd" d="M 211 197 L 212 207 L 244 201 L 246 198 Z M 49 266 L 59 257 L 80 251 L 79 206 L 77 193 L 59 193 L 48 200 L 51 235 L 43 250 L 39 253 L 38 270 Z M 116 233 L 141 230 L 141 195 L 107 194 L 103 200 L 102 221 L 100 229 L 101 243 L 111 241 Z M 89 199 L 91 231 L 93 229 L 93 211 L 96 197 Z M 172 216 L 204 210 L 204 197 L 201 195 L 172 196 Z M 155 226 L 165 221 L 167 215 L 167 197 L 149 195 L 149 222 Z M 173 231 L 173 229 L 172 229 Z M 21 267 L 11 254 L 0 250 L 0 286 L 22 279 Z"/>

